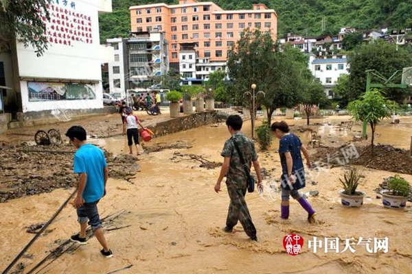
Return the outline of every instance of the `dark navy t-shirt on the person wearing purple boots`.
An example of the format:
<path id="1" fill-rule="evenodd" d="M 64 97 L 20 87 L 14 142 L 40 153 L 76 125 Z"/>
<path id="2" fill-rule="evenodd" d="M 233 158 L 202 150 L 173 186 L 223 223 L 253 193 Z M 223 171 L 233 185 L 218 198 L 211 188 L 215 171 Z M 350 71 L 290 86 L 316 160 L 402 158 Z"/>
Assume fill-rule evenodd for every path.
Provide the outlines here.
<path id="1" fill-rule="evenodd" d="M 280 163 L 282 164 L 282 179 L 288 177 L 288 166 L 286 164 L 286 152 L 290 152 L 293 160 L 292 174 L 297 176 L 297 182 L 304 186 L 305 171 L 301 156 L 301 140 L 295 134 L 286 134 L 279 141 Z"/>

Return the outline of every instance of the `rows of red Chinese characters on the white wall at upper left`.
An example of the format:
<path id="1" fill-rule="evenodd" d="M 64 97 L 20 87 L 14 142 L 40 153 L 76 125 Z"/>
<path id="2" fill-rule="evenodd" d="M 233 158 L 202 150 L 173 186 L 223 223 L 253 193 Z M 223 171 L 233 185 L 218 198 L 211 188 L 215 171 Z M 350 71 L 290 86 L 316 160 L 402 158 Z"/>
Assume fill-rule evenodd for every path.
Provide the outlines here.
<path id="1" fill-rule="evenodd" d="M 78 12 L 73 0 L 54 0 L 49 5 L 50 20 L 45 16 L 46 36 L 50 43 L 73 47 L 76 43 L 92 44 L 91 16 Z"/>

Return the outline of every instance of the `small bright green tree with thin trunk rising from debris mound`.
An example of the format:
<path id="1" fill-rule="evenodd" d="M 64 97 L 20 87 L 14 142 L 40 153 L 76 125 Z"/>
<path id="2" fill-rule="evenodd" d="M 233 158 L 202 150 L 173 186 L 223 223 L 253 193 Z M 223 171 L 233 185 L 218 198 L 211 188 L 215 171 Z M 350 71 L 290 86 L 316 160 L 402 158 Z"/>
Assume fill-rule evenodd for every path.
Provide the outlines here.
<path id="1" fill-rule="evenodd" d="M 391 113 L 396 110 L 396 103 L 386 99 L 379 90 L 374 89 L 365 92 L 360 99 L 350 102 L 347 108 L 356 121 L 365 121 L 370 125 L 373 155 L 376 125 L 382 119 L 391 116 Z"/>

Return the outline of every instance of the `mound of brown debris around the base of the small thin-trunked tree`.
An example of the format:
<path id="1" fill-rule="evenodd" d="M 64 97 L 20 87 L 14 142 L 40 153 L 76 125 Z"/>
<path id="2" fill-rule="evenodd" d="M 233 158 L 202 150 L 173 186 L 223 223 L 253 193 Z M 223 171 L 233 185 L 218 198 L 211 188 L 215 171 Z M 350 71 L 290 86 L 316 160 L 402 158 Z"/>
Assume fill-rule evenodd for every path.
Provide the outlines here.
<path id="1" fill-rule="evenodd" d="M 347 147 L 347 144 L 341 147 L 320 147 L 317 152 L 314 153 L 314 159 L 325 162 L 332 158 L 328 164 L 334 164 L 337 166 L 342 165 L 339 161 L 344 157 L 341 149 Z M 361 165 L 370 169 L 378 169 L 381 171 L 391 171 L 396 173 L 412 174 L 412 158 L 409 151 L 406 149 L 398 149 L 391 145 L 375 145 L 374 155 L 371 155 L 371 146 L 356 146 L 358 158 L 352 157 L 349 160 L 349 164 Z M 334 158 L 335 155 L 339 155 L 338 158 Z M 335 159 L 335 160 L 334 160 Z M 334 161 L 333 161 L 334 160 Z"/>

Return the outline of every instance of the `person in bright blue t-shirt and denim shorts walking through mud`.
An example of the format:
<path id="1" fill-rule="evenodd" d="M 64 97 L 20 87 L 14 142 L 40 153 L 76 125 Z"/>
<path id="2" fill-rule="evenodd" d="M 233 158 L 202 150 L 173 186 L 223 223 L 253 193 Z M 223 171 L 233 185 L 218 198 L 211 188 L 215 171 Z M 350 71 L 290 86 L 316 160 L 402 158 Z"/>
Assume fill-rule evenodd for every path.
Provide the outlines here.
<path id="1" fill-rule="evenodd" d="M 87 221 L 89 221 L 94 235 L 103 247 L 100 253 L 110 258 L 113 257 L 113 253 L 104 238 L 102 221 L 98 212 L 98 202 L 106 195 L 108 178 L 106 158 L 104 158 L 102 149 L 86 142 L 86 135 L 86 130 L 78 125 L 70 127 L 66 133 L 71 144 L 78 149 L 74 154 L 73 170 L 74 173 L 80 174 L 78 193 L 74 199 L 80 233 L 71 236 L 70 239 L 80 245 L 86 245 L 86 229 Z"/>

